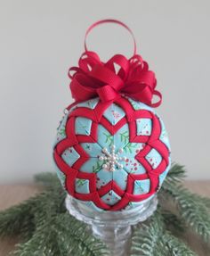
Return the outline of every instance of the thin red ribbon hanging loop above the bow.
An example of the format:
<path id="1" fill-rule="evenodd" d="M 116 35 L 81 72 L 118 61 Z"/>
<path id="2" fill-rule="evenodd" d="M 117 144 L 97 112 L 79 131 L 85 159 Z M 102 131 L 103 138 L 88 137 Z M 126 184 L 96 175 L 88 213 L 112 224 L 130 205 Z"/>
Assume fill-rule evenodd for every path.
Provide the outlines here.
<path id="1" fill-rule="evenodd" d="M 135 37 L 133 35 L 133 31 L 122 21 L 117 21 L 117 20 L 113 20 L 113 19 L 105 19 L 105 20 L 100 20 L 100 21 L 96 21 L 94 22 L 85 32 L 85 52 L 88 52 L 88 48 L 87 48 L 87 43 L 86 43 L 86 39 L 88 37 L 88 35 L 90 34 L 90 32 L 97 26 L 104 24 L 104 23 L 116 23 L 117 25 L 120 25 L 122 27 L 124 27 L 125 29 L 128 30 L 128 32 L 130 33 L 130 35 L 133 38 L 133 55 L 136 54 L 136 42 L 135 42 Z"/>

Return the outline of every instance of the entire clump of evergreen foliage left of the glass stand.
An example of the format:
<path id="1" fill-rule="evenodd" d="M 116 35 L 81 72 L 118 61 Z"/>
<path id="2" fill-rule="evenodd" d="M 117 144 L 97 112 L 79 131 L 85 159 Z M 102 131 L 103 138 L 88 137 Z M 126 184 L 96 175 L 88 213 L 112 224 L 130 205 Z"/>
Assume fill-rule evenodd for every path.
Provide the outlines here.
<path id="1" fill-rule="evenodd" d="M 44 192 L 0 213 L 0 235 L 20 235 L 14 255 L 96 256 L 107 248 L 90 234 L 86 225 L 71 217 L 58 178 L 51 173 L 36 175 Z"/>

